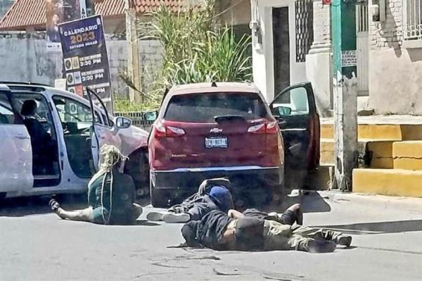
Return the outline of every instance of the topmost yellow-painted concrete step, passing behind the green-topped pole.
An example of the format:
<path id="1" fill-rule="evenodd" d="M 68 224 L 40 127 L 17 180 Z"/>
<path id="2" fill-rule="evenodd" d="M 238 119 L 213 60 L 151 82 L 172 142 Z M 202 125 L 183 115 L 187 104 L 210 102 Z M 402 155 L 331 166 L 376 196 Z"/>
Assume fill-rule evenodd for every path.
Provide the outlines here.
<path id="1" fill-rule="evenodd" d="M 359 124 L 358 139 L 418 140 L 422 139 L 422 124 Z M 334 138 L 333 123 L 321 123 L 321 138 Z"/>

